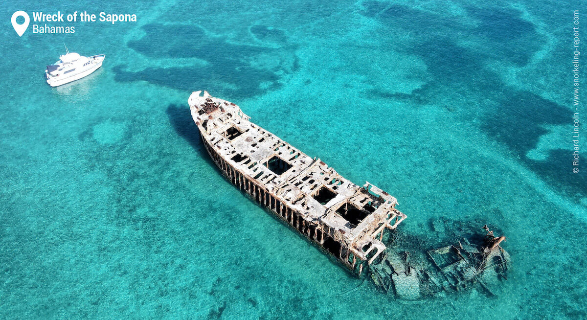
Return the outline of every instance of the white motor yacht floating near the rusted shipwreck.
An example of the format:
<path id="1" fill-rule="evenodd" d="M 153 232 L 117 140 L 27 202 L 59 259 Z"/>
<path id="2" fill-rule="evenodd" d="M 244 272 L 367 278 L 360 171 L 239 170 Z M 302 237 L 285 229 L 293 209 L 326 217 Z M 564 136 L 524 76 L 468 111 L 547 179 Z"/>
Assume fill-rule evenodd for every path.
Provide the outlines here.
<path id="1" fill-rule="evenodd" d="M 82 79 L 102 66 L 106 55 L 95 55 L 91 57 L 80 56 L 78 53 L 69 52 L 59 57 L 59 61 L 47 66 L 45 74 L 47 83 L 56 87 L 66 83 Z"/>

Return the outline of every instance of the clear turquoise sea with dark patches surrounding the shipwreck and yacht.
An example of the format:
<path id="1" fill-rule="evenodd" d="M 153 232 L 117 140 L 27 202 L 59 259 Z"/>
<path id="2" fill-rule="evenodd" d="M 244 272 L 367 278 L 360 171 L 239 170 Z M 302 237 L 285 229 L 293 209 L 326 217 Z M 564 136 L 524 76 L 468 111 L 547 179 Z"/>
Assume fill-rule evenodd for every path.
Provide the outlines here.
<path id="1" fill-rule="evenodd" d="M 582 8 L 0 8 L 0 318 L 587 317 L 587 167 L 572 174 L 570 154 L 572 10 Z M 18 38 L 16 10 L 139 19 L 77 23 L 73 35 L 29 27 Z M 106 60 L 51 88 L 43 70 L 64 42 Z M 502 293 L 405 302 L 352 277 L 221 176 L 188 111 L 201 89 L 396 196 L 408 215 L 398 232 L 414 247 L 450 244 L 483 224 L 507 235 L 514 265 Z"/>

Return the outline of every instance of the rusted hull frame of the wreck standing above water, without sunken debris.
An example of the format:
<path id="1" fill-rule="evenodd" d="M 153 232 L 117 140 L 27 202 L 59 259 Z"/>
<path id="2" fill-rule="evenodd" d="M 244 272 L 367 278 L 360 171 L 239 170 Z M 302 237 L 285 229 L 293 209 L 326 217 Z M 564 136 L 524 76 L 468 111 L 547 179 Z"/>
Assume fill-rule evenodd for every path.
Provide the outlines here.
<path id="1" fill-rule="evenodd" d="M 320 159 L 249 122 L 234 103 L 191 94 L 191 115 L 222 173 L 281 220 L 361 275 L 406 215 L 396 198 L 369 182 L 353 184 Z"/>

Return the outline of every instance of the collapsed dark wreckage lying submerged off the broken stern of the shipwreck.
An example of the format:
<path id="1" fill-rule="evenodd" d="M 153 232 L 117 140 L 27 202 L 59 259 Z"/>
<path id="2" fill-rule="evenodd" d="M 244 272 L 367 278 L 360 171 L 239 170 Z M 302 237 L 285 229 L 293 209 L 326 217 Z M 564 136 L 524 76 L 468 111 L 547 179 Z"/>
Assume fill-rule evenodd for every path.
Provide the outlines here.
<path id="1" fill-rule="evenodd" d="M 487 231 L 483 241 L 475 244 L 467 238 L 457 244 L 427 252 L 426 261 L 410 260 L 410 252 L 386 250 L 379 261 L 370 265 L 370 278 L 397 298 L 417 300 L 441 292 L 477 288 L 488 296 L 496 295 L 495 287 L 507 279 L 510 255 L 501 247 L 505 237 Z"/>

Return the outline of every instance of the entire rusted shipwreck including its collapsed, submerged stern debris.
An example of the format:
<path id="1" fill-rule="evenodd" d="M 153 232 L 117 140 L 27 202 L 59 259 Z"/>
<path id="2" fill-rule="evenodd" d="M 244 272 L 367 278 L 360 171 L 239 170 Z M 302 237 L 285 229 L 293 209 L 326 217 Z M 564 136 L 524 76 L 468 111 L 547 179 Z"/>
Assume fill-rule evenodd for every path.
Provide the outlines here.
<path id="1" fill-rule="evenodd" d="M 478 288 L 495 295 L 510 256 L 487 226 L 483 241 L 467 238 L 410 254 L 393 244 L 406 215 L 397 200 L 366 182 L 357 186 L 250 121 L 234 103 L 193 92 L 191 116 L 205 149 L 234 186 L 328 252 L 358 277 L 397 298 L 415 300 Z"/>

